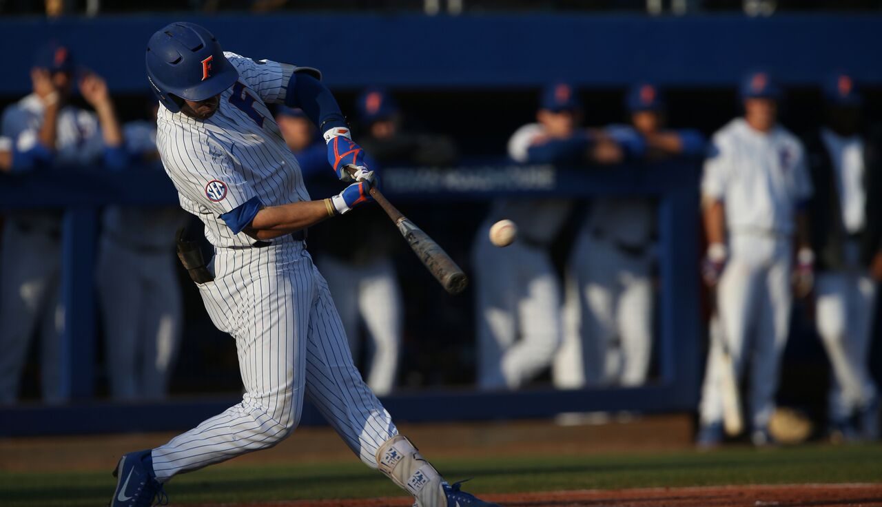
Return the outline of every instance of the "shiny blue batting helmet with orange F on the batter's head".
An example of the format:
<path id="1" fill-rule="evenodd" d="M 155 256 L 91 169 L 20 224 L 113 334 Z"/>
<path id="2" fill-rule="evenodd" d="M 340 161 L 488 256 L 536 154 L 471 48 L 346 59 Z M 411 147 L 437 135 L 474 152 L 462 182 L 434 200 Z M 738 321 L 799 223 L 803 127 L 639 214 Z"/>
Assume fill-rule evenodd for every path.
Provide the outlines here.
<path id="1" fill-rule="evenodd" d="M 239 78 L 214 35 L 193 23 L 172 23 L 153 34 L 146 63 L 153 93 L 172 113 L 183 100 L 204 101 Z"/>

